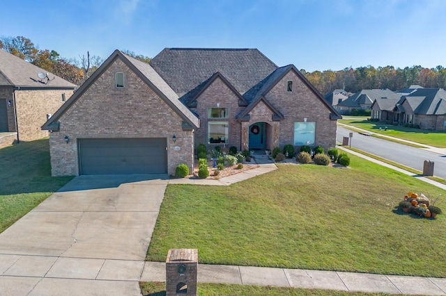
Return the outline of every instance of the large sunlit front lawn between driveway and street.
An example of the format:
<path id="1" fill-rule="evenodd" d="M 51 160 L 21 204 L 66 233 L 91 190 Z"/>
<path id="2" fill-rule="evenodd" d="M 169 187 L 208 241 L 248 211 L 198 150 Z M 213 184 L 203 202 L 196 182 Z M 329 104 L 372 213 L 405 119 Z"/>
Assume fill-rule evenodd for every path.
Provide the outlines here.
<path id="1" fill-rule="evenodd" d="M 446 219 L 404 215 L 409 190 L 445 190 L 351 155 L 351 168 L 279 165 L 232 186 L 167 186 L 147 260 L 446 276 Z M 437 204 L 442 207 L 442 204 Z"/>

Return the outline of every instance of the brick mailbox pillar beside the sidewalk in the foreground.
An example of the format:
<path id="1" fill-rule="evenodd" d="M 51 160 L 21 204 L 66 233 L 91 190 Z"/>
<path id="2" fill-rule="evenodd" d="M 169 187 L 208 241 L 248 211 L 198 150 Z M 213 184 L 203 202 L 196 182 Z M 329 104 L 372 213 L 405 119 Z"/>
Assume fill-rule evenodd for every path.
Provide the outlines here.
<path id="1" fill-rule="evenodd" d="M 197 296 L 198 249 L 169 249 L 166 296 Z"/>

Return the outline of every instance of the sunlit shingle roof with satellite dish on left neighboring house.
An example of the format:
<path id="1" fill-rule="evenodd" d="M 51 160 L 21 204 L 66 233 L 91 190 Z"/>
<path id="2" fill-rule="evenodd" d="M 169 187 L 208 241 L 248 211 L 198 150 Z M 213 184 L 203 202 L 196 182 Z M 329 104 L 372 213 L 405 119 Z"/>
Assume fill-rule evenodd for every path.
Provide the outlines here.
<path id="1" fill-rule="evenodd" d="M 59 76 L 49 73 L 49 83 L 40 83 L 38 72 L 47 73 L 45 69 L 37 67 L 31 63 L 9 54 L 0 49 L 0 85 L 10 85 L 22 88 L 77 88 L 77 85 L 72 84 Z M 43 79 L 47 81 L 47 79 Z"/>

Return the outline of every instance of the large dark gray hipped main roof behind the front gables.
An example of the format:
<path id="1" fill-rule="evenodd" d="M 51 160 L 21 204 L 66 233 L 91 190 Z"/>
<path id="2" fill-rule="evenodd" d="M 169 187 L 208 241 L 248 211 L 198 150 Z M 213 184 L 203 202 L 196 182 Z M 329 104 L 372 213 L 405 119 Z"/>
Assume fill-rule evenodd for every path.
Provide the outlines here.
<path id="1" fill-rule="evenodd" d="M 200 85 L 206 84 L 203 81 L 216 72 L 244 94 L 277 69 L 258 49 L 167 48 L 149 64 L 179 97 L 184 96 L 182 101 L 199 92 Z"/>

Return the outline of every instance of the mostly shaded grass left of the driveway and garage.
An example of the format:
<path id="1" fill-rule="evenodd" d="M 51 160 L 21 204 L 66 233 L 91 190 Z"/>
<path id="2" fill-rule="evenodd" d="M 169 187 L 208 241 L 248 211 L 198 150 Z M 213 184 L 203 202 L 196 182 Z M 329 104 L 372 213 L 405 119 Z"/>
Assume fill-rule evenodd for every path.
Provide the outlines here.
<path id="1" fill-rule="evenodd" d="M 0 149 L 0 232 L 72 177 L 52 177 L 48 139 Z"/>

